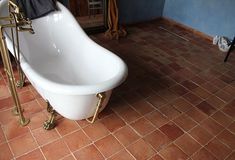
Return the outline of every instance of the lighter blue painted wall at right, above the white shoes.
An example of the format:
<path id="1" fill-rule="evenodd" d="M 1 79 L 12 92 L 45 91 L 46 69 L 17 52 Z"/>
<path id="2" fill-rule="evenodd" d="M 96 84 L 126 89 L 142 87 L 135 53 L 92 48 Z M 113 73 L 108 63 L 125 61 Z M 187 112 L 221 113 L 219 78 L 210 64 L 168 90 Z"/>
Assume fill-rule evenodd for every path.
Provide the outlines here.
<path id="1" fill-rule="evenodd" d="M 210 36 L 235 36 L 235 0 L 165 0 L 163 16 Z"/>

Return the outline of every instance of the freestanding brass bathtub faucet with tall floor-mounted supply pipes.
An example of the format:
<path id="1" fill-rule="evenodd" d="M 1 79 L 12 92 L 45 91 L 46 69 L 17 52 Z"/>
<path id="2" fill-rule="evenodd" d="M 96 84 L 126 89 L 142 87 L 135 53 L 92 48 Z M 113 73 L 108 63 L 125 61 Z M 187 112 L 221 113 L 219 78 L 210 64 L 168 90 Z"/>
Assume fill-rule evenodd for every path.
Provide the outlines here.
<path id="1" fill-rule="evenodd" d="M 4 71 L 7 75 L 10 92 L 11 92 L 11 95 L 15 104 L 15 107 L 13 108 L 12 112 L 14 115 L 19 115 L 20 125 L 25 126 L 30 122 L 30 120 L 26 119 L 23 115 L 23 110 L 20 104 L 19 96 L 16 91 L 16 81 L 15 81 L 13 68 L 12 68 L 12 64 L 10 60 L 10 55 L 9 55 L 10 53 L 8 52 L 8 49 L 7 49 L 6 37 L 4 36 L 4 29 L 11 28 L 12 39 L 15 39 L 12 28 L 15 28 L 17 36 L 18 36 L 18 31 L 29 31 L 33 33 L 33 29 L 31 26 L 31 21 L 23 17 L 23 15 L 20 13 L 19 7 L 15 3 L 13 3 L 12 1 L 9 1 L 8 6 L 9 6 L 9 16 L 0 17 L 0 20 L 9 22 L 9 23 L 0 25 L 0 49 L 1 49 L 0 51 L 1 51 L 2 61 L 3 61 Z M 14 55 L 17 56 L 17 54 L 19 54 L 19 38 L 16 37 L 16 39 L 17 39 L 16 44 L 15 44 L 15 41 L 13 41 L 13 48 L 17 47 L 16 49 L 17 51 L 14 48 Z"/>

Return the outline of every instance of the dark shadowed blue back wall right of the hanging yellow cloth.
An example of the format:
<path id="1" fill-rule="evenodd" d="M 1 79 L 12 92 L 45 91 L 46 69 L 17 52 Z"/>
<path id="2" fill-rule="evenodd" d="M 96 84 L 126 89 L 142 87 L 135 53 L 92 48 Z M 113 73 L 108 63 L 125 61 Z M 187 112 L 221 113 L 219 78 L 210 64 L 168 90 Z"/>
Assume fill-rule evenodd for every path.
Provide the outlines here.
<path id="1" fill-rule="evenodd" d="M 165 0 L 117 0 L 120 23 L 148 21 L 162 16 Z"/>

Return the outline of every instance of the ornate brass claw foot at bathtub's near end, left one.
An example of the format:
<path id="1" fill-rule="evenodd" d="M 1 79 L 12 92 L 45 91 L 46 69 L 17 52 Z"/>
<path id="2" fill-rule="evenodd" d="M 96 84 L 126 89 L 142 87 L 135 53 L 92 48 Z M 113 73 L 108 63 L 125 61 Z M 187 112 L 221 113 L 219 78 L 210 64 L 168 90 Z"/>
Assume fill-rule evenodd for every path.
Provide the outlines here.
<path id="1" fill-rule="evenodd" d="M 55 128 L 56 123 L 55 123 L 55 117 L 57 115 L 56 111 L 52 108 L 52 106 L 50 105 L 50 103 L 47 101 L 47 112 L 50 113 L 50 118 L 49 120 L 46 120 L 43 123 L 43 128 L 45 130 L 51 130 L 53 128 Z"/>

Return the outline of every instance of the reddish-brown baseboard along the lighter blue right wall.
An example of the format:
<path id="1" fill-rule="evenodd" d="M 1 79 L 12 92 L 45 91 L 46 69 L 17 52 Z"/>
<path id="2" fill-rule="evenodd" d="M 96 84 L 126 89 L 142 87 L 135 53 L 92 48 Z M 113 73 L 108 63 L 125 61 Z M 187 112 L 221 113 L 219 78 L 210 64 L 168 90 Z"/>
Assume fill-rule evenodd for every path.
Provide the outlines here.
<path id="1" fill-rule="evenodd" d="M 164 22 L 169 23 L 169 25 L 181 27 L 181 28 L 183 28 L 183 29 L 185 29 L 185 30 L 191 32 L 192 34 L 197 35 L 197 36 L 199 36 L 199 37 L 201 37 L 201 38 L 203 38 L 203 39 L 206 39 L 206 40 L 208 40 L 208 41 L 212 41 L 212 40 L 213 40 L 213 37 L 212 37 L 212 36 L 209 36 L 209 35 L 207 35 L 207 34 L 205 34 L 205 33 L 203 33 L 203 32 L 200 32 L 200 31 L 194 29 L 194 28 L 191 28 L 191 27 L 189 27 L 189 26 L 187 26 L 187 25 L 184 25 L 184 24 L 182 24 L 182 23 L 179 23 L 179 22 L 177 22 L 177 21 L 175 21 L 175 20 L 173 20 L 173 19 L 169 19 L 169 18 L 166 18 L 166 17 L 161 17 L 160 19 L 161 19 L 162 21 L 164 21 Z"/>

